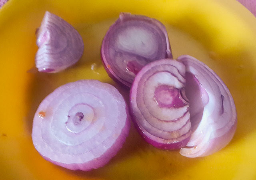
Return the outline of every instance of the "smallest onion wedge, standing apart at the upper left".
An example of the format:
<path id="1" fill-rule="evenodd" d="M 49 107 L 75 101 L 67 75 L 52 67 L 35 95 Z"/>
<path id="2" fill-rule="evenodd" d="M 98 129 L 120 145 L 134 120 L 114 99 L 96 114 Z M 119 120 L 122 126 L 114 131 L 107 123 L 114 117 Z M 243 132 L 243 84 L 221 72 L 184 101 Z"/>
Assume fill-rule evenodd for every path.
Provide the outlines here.
<path id="1" fill-rule="evenodd" d="M 36 35 L 38 71 L 62 71 L 76 63 L 83 54 L 84 43 L 80 34 L 68 22 L 48 11 Z"/>

